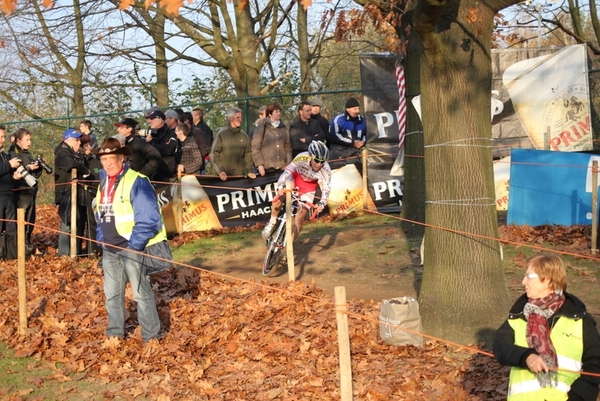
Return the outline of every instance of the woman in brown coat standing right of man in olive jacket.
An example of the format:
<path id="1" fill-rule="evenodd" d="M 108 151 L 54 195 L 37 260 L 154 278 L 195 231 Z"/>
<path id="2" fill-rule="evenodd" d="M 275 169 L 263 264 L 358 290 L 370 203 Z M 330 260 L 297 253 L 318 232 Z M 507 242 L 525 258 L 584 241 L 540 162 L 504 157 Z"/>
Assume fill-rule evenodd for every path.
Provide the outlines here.
<path id="1" fill-rule="evenodd" d="M 252 159 L 258 174 L 281 172 L 292 161 L 287 127 L 281 121 L 281 106 L 270 104 L 252 140 Z"/>

